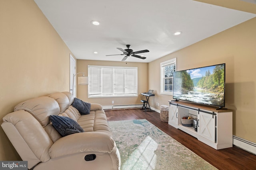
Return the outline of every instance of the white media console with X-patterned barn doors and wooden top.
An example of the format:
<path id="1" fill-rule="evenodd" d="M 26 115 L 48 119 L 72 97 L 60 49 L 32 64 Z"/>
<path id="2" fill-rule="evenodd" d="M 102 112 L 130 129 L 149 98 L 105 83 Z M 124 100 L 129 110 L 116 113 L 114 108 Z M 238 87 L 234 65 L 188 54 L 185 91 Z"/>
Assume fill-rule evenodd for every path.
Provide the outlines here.
<path id="1" fill-rule="evenodd" d="M 214 149 L 232 147 L 232 110 L 216 109 L 182 101 L 169 101 L 168 124 Z M 182 117 L 197 119 L 197 131 L 181 123 Z"/>

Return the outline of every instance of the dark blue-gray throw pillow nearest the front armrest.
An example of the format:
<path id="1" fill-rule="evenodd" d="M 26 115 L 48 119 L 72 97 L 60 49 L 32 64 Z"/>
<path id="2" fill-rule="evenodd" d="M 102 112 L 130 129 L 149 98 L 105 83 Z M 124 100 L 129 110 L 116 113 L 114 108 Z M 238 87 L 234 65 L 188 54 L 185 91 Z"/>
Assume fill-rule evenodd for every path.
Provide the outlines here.
<path id="1" fill-rule="evenodd" d="M 52 122 L 52 126 L 63 137 L 73 133 L 84 132 L 84 129 L 70 117 L 50 115 L 50 120 Z"/>

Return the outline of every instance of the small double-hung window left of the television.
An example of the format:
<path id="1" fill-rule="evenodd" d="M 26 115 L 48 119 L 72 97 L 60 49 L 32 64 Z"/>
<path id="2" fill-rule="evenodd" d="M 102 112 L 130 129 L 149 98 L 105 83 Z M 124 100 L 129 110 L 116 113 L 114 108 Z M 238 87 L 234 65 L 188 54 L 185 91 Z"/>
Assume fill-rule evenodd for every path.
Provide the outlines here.
<path id="1" fill-rule="evenodd" d="M 176 71 L 176 58 L 160 63 L 161 68 L 161 94 L 172 95 L 173 72 Z"/>

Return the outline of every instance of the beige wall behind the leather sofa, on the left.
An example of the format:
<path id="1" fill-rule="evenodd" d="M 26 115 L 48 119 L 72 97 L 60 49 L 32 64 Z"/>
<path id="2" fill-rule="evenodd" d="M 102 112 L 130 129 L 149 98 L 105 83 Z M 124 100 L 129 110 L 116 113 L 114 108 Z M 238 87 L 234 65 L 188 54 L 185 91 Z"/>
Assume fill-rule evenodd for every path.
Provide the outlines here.
<path id="1" fill-rule="evenodd" d="M 0 0 L 0 124 L 16 104 L 69 91 L 70 50 L 33 0 Z M 19 160 L 0 128 L 0 160 Z"/>

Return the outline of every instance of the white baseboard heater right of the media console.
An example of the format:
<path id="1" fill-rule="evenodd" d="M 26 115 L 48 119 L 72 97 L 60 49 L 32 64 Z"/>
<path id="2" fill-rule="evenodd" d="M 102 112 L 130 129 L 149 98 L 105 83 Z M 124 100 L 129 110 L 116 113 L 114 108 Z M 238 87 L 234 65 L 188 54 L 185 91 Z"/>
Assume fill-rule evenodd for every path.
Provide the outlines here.
<path id="1" fill-rule="evenodd" d="M 252 154 L 256 154 L 256 143 L 247 141 L 245 139 L 233 135 L 233 145 L 241 149 L 244 149 Z"/>

